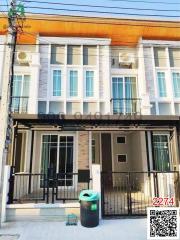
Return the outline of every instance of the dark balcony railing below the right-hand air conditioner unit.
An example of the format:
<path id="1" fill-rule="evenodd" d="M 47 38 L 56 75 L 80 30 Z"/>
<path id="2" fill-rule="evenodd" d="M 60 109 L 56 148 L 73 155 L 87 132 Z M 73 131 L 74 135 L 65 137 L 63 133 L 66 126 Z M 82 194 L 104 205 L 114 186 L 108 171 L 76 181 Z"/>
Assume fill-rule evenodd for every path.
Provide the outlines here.
<path id="1" fill-rule="evenodd" d="M 112 98 L 113 114 L 141 114 L 140 98 Z"/>

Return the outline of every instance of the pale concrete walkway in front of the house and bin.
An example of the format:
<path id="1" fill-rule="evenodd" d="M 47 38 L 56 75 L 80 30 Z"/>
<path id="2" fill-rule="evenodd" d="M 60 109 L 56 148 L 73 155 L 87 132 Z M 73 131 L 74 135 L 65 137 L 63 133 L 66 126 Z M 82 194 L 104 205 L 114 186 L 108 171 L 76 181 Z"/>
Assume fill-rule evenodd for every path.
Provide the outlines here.
<path id="1" fill-rule="evenodd" d="M 9 236 L 8 236 L 9 235 Z M 146 218 L 102 220 L 96 228 L 66 226 L 64 222 L 9 222 L 0 240 L 146 240 Z"/>

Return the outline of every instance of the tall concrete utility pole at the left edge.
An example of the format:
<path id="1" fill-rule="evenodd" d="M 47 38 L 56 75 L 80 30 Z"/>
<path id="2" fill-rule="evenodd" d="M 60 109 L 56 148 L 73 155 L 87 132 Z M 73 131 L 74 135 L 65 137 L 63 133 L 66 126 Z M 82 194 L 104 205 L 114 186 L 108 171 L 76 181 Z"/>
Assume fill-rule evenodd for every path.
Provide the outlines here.
<path id="1" fill-rule="evenodd" d="M 4 54 L 3 78 L 2 78 L 2 99 L 0 110 L 0 223 L 2 211 L 2 190 L 4 180 L 4 166 L 8 154 L 8 147 L 12 135 L 12 93 L 14 78 L 14 61 L 16 52 L 17 34 L 22 26 L 17 24 L 19 18 L 24 17 L 24 7 L 17 4 L 17 0 L 10 1 L 8 12 L 8 35 Z"/>

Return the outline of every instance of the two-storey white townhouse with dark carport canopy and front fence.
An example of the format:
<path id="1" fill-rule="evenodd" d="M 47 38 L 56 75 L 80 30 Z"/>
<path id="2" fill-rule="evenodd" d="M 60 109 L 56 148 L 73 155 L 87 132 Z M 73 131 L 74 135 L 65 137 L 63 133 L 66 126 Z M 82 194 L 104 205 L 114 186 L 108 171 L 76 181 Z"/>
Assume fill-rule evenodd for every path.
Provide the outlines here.
<path id="1" fill-rule="evenodd" d="M 77 200 L 92 186 L 93 164 L 104 216 L 146 214 L 154 196 L 177 204 L 180 36 L 154 31 L 149 39 L 159 40 L 144 40 L 137 31 L 134 44 L 121 44 L 124 32 L 96 34 L 89 24 L 94 37 L 71 34 L 71 24 L 54 34 L 55 24 L 41 26 L 36 44 L 17 46 L 10 209 Z"/>

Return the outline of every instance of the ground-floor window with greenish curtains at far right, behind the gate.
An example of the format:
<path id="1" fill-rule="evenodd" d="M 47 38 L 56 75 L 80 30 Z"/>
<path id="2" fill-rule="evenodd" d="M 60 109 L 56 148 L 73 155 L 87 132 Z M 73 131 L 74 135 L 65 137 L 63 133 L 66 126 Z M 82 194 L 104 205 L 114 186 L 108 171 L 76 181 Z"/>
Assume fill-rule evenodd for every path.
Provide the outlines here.
<path id="1" fill-rule="evenodd" d="M 170 170 L 170 153 L 168 135 L 153 135 L 154 149 L 154 170 L 169 171 Z"/>

